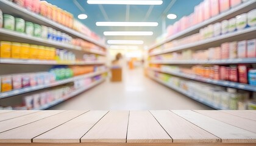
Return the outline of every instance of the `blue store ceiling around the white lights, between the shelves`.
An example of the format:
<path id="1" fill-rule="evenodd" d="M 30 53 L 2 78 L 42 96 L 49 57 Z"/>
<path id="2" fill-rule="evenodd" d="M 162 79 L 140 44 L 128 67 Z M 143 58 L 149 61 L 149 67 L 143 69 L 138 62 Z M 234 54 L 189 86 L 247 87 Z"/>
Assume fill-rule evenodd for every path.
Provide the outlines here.
<path id="1" fill-rule="evenodd" d="M 166 27 L 175 23 L 182 16 L 189 15 L 194 11 L 194 6 L 198 5 L 203 0 L 163 0 L 162 5 L 89 5 L 86 0 L 46 0 L 51 4 L 73 13 L 74 17 L 80 13 L 86 13 L 87 19 L 80 20 L 88 28 L 93 30 L 101 37 L 105 37 L 106 40 L 143 40 L 145 46 L 151 46 L 154 43 L 155 38 L 162 34 L 162 18 L 166 18 L 166 12 L 174 13 L 177 18 L 174 20 L 166 18 Z M 171 9 L 168 5 L 174 2 Z M 82 6 L 83 10 L 75 4 L 76 2 Z M 78 18 L 77 18 L 78 19 Z M 158 22 L 157 27 L 102 27 L 96 26 L 98 21 L 151 21 Z M 104 36 L 104 31 L 152 31 L 152 36 Z"/>

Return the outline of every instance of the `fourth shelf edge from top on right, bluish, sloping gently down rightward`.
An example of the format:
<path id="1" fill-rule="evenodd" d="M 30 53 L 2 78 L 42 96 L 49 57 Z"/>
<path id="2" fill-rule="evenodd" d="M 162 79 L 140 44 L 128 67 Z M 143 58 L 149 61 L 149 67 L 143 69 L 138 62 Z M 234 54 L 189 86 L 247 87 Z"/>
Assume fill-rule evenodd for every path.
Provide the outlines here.
<path id="1" fill-rule="evenodd" d="M 185 74 L 183 72 L 162 71 L 161 69 L 156 69 L 156 68 L 149 68 L 149 69 L 151 69 L 152 71 L 163 72 L 166 74 L 171 74 L 171 75 L 175 75 L 177 77 L 182 77 L 182 78 L 188 78 L 188 79 L 196 80 L 199 82 L 256 92 L 256 86 L 248 85 L 244 83 L 229 82 L 224 80 L 213 80 L 210 78 L 199 77 L 197 75 Z"/>

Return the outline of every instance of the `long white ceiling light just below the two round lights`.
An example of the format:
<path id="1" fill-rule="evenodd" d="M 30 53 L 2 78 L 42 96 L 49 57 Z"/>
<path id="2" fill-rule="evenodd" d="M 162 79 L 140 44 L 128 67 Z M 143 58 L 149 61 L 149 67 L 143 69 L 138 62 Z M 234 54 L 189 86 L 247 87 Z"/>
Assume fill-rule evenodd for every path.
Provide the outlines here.
<path id="1" fill-rule="evenodd" d="M 96 26 L 158 26 L 154 22 L 97 22 Z"/>

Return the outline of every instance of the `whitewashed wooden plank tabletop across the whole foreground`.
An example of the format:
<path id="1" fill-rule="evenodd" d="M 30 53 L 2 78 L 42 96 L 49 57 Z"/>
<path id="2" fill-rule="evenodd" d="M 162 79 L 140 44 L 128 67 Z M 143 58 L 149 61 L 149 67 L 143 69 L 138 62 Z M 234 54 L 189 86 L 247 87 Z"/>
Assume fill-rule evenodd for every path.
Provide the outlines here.
<path id="1" fill-rule="evenodd" d="M 256 145 L 256 111 L 0 111 L 0 145 Z"/>

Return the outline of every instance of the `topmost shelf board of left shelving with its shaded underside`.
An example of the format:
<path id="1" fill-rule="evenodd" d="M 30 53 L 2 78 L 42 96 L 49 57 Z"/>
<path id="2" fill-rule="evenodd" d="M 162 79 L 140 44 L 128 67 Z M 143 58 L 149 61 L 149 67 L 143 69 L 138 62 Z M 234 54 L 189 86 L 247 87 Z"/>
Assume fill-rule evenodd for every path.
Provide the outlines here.
<path id="1" fill-rule="evenodd" d="M 0 9 L 2 10 L 2 12 L 9 13 L 10 15 L 18 15 L 21 18 L 26 19 L 27 21 L 32 21 L 40 25 L 52 27 L 56 30 L 67 33 L 70 36 L 82 38 L 86 41 L 90 41 L 91 43 L 96 44 L 97 46 L 106 48 L 104 43 L 93 40 L 92 38 L 90 38 L 90 36 L 86 36 L 80 32 L 77 32 L 76 30 L 65 27 L 62 24 L 52 21 L 51 19 L 45 18 L 44 16 L 32 13 L 29 10 L 20 7 L 20 5 L 13 4 L 13 2 L 0 0 Z"/>

